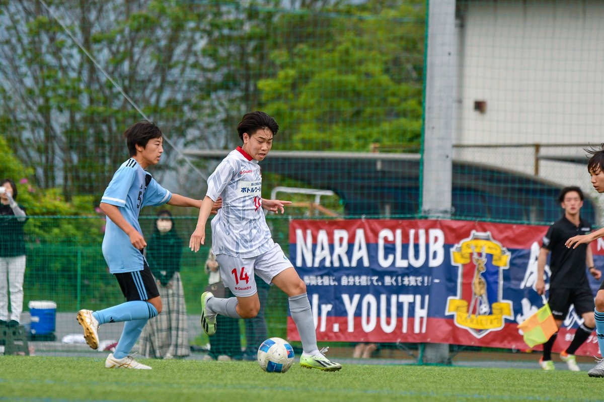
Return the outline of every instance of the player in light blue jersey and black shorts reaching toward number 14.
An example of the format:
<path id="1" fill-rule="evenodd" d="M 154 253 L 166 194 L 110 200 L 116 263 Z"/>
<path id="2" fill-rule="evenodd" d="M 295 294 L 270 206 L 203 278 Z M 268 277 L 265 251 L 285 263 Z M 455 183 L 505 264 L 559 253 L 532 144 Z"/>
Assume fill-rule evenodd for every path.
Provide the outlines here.
<path id="1" fill-rule="evenodd" d="M 103 256 L 109 272 L 120 284 L 126 303 L 104 310 L 80 310 L 77 321 L 84 328 L 86 343 L 98 348 L 98 327 L 108 322 L 125 322 L 114 353 L 105 361 L 106 368 L 150 369 L 130 356 L 143 327 L 161 313 L 161 297 L 143 249 L 147 245 L 138 216 L 144 206 L 170 204 L 178 207 L 201 207 L 201 200 L 173 194 L 160 186 L 146 171 L 159 163 L 163 134 L 148 121 L 138 122 L 125 133 L 130 159 L 122 163 L 101 198 L 100 209 L 107 215 L 103 238 Z M 218 207 L 217 204 L 216 207 Z"/>

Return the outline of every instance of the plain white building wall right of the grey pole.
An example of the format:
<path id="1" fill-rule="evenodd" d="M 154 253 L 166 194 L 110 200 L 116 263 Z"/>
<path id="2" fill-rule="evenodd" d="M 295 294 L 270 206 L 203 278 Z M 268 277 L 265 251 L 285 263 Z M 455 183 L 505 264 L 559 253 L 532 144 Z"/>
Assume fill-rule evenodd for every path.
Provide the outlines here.
<path id="1" fill-rule="evenodd" d="M 585 164 L 544 157 L 582 157 L 604 142 L 604 1 L 458 3 L 458 16 L 455 159 L 535 174 L 538 156 L 539 177 L 595 195 Z M 535 143 L 537 155 L 516 146 Z"/>

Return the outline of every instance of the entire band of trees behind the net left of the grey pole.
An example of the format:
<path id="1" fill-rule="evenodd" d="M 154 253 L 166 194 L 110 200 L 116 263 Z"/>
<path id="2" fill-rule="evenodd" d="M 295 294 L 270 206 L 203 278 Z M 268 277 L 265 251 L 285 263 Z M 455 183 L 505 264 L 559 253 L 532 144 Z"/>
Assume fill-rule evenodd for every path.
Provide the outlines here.
<path id="1" fill-rule="evenodd" d="M 423 2 L 284 4 L 0 1 L 0 129 L 24 177 L 98 199 L 140 111 L 178 149 L 233 148 L 239 119 L 258 109 L 282 128 L 276 148 L 417 145 Z M 204 180 L 166 148 L 154 175 L 178 171 L 190 193 Z"/>

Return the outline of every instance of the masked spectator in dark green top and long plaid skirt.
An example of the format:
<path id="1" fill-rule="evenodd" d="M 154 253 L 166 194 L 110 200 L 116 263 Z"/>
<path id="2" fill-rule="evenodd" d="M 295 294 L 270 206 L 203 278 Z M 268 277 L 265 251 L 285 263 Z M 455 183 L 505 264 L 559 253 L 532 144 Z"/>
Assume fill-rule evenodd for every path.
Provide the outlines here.
<path id="1" fill-rule="evenodd" d="M 188 356 L 187 309 L 182 289 L 182 239 L 172 214 L 162 210 L 147 243 L 147 261 L 163 301 L 162 313 L 149 320 L 141 335 L 141 354 L 157 359 Z"/>

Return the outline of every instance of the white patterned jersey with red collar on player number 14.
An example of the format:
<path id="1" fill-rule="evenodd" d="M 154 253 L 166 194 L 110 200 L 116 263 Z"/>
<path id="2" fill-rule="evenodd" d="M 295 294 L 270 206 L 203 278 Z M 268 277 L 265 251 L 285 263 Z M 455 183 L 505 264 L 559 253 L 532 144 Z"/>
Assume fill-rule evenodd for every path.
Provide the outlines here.
<path id="1" fill-rule="evenodd" d="M 262 174 L 258 161 L 238 146 L 208 178 L 208 197 L 222 197 L 212 219 L 214 254 L 250 258 L 271 250 L 274 242 L 262 210 Z"/>

